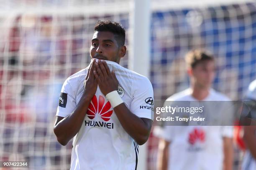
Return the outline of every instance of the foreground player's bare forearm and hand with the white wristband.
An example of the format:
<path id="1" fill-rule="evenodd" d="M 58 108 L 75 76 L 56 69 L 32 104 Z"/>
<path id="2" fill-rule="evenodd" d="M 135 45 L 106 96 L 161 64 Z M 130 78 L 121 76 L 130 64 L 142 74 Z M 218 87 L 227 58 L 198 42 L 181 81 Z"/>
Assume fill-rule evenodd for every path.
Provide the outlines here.
<path id="1" fill-rule="evenodd" d="M 110 72 L 105 61 L 95 63 L 97 72 L 94 71 L 98 85 L 103 95 L 117 90 L 118 80 L 114 72 Z M 152 120 L 147 118 L 140 118 L 134 115 L 124 103 L 114 107 L 114 111 L 124 130 L 138 143 L 143 145 L 148 140 Z"/>

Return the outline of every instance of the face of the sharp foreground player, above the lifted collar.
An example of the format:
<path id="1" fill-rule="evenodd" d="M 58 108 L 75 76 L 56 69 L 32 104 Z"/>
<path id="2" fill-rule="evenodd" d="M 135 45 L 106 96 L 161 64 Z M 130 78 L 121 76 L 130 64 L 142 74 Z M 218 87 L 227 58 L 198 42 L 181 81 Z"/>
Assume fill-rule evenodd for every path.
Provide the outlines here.
<path id="1" fill-rule="evenodd" d="M 124 47 L 118 47 L 118 42 L 112 32 L 96 31 L 92 37 L 90 55 L 92 58 L 119 63 L 120 58 L 124 57 L 126 52 Z"/>

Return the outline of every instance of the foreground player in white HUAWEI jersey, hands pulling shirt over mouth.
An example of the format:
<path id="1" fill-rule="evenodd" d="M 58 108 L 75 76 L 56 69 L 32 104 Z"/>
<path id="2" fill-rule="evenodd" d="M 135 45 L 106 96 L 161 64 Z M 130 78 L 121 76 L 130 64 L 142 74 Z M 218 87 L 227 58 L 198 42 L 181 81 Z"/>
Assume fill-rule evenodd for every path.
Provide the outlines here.
<path id="1" fill-rule="evenodd" d="M 148 78 L 119 65 L 125 30 L 98 21 L 90 65 L 67 78 L 61 89 L 54 133 L 61 145 L 73 138 L 71 170 L 136 170 L 138 145 L 153 122 Z M 139 57 L 139 56 L 138 56 Z"/>

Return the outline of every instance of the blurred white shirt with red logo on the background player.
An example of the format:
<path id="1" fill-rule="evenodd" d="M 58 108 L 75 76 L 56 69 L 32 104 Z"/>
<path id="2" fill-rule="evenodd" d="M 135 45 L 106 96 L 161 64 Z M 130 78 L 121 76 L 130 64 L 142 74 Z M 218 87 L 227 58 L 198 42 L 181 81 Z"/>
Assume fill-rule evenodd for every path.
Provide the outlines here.
<path id="1" fill-rule="evenodd" d="M 172 95 L 166 101 L 196 101 L 192 90 Z M 228 101 L 211 89 L 205 101 Z M 164 126 L 161 138 L 169 145 L 169 170 L 222 170 L 223 137 L 233 136 L 232 126 Z M 195 136 L 199 139 L 195 139 Z M 200 138 L 201 137 L 201 138 Z"/>

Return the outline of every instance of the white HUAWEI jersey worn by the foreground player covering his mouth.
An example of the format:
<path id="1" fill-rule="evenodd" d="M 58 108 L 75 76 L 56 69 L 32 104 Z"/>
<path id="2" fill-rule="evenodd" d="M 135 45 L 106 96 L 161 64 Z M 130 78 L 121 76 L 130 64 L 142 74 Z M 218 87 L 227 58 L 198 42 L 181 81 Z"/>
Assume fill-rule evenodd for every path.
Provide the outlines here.
<path id="1" fill-rule="evenodd" d="M 106 61 L 115 70 L 118 94 L 138 117 L 153 120 L 153 88 L 148 78 L 115 62 Z M 56 116 L 66 117 L 77 106 L 84 92 L 89 66 L 67 78 L 61 89 Z M 64 94 L 66 93 L 66 94 Z M 106 97 L 97 88 L 79 133 L 73 139 L 71 170 L 134 170 L 138 145 L 120 124 Z"/>

